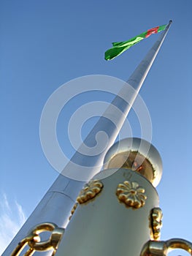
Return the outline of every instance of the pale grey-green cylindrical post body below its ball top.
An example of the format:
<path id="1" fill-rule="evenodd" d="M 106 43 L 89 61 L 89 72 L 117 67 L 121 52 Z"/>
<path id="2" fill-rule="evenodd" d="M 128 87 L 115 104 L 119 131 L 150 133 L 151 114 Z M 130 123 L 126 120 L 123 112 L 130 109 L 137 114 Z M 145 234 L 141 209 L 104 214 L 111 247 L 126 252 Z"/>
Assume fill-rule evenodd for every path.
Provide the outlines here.
<path id="1" fill-rule="evenodd" d="M 56 256 L 139 256 L 150 240 L 150 211 L 158 207 L 155 188 L 123 168 L 104 170 L 93 180 L 80 192 Z"/>

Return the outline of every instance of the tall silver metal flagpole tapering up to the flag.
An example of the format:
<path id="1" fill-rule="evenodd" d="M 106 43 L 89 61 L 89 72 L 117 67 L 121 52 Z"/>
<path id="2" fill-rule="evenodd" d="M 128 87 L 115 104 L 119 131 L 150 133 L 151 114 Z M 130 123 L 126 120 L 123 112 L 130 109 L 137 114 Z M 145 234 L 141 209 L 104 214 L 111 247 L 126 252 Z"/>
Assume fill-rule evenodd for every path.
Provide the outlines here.
<path id="1" fill-rule="evenodd" d="M 149 50 L 145 58 L 141 61 L 137 69 L 135 69 L 131 77 L 128 79 L 127 83 L 132 86 L 133 89 L 129 90 L 128 88 L 130 87 L 128 87 L 127 83 L 125 83 L 125 86 L 120 89 L 120 92 L 112 101 L 112 104 L 109 105 L 107 110 L 104 112 L 104 115 L 99 118 L 99 121 L 93 127 L 79 148 L 83 148 L 84 143 L 90 148 L 95 146 L 94 141 L 96 134 L 98 134 L 100 131 L 103 131 L 108 136 L 106 149 L 101 154 L 93 157 L 89 156 L 89 152 L 82 156 L 82 154 L 79 153 L 80 150 L 74 154 L 72 159 L 64 168 L 64 171 L 58 176 L 58 178 L 56 178 L 55 182 L 50 187 L 50 189 L 48 189 L 47 193 L 42 198 L 37 208 L 35 208 L 31 216 L 26 220 L 26 223 L 19 230 L 18 234 L 15 236 L 15 238 L 13 238 L 9 246 L 7 246 L 3 256 L 11 255 L 12 251 L 26 236 L 28 231 L 41 222 L 54 222 L 59 227 L 65 227 L 67 225 L 70 211 L 83 184 L 85 181 L 91 178 L 91 176 L 101 170 L 104 155 L 110 146 L 112 146 L 112 144 L 115 142 L 115 139 L 117 138 L 118 133 L 123 126 L 124 121 L 126 120 L 126 116 L 128 116 L 128 113 L 134 104 L 134 100 L 139 94 L 139 90 L 142 87 L 147 73 L 149 72 L 153 61 L 155 60 L 155 56 L 157 55 L 158 50 L 161 48 L 161 45 L 164 42 L 171 23 L 172 21 L 170 20 L 169 24 L 166 26 L 166 29 L 161 33 L 153 47 Z M 117 116 L 117 114 L 115 116 L 115 119 L 118 120 L 116 121 L 116 128 L 112 124 L 112 121 L 110 121 L 111 116 L 114 115 L 114 105 L 122 112 L 121 116 Z M 79 179 L 79 181 L 66 178 L 66 176 L 63 174 L 68 172 L 72 173 L 74 167 L 77 168 L 77 170 L 82 170 L 82 168 L 85 169 L 85 167 L 88 167 L 89 172 L 85 172 L 84 177 L 84 174 L 82 173 L 82 178 Z M 37 252 L 36 255 L 40 254 Z M 47 254 L 44 255 L 50 255 L 50 252 L 47 252 Z"/>

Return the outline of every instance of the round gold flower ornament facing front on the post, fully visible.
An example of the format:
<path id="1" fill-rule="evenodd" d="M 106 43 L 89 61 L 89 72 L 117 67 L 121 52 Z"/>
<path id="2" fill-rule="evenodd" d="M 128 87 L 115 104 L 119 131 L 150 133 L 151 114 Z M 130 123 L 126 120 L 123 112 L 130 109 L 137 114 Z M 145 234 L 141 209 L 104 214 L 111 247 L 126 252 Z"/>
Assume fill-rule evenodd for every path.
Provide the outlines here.
<path id="1" fill-rule="evenodd" d="M 132 208 L 144 206 L 145 200 L 147 199 L 145 189 L 134 181 L 124 181 L 123 184 L 118 184 L 116 195 L 121 202 Z"/>

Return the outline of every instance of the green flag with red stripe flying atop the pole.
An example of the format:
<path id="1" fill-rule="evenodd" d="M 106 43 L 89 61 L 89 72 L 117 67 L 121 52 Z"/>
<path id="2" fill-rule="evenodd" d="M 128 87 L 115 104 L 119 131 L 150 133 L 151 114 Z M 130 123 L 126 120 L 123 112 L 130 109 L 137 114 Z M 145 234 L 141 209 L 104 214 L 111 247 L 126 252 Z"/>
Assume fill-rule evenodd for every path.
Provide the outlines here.
<path id="1" fill-rule="evenodd" d="M 104 53 L 104 59 L 106 59 L 107 61 L 114 59 L 115 57 L 123 53 L 125 50 L 128 50 L 128 48 L 130 48 L 131 46 L 136 45 L 138 42 L 142 41 L 142 39 L 150 37 L 151 34 L 161 32 L 165 28 L 166 25 L 156 26 L 155 28 L 148 29 L 147 31 L 143 32 L 142 34 L 139 34 L 137 37 L 129 39 L 128 41 L 112 42 L 112 48 L 110 48 Z"/>

